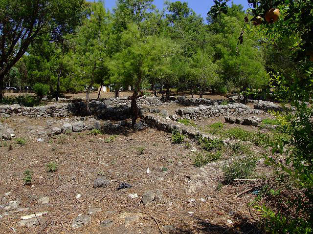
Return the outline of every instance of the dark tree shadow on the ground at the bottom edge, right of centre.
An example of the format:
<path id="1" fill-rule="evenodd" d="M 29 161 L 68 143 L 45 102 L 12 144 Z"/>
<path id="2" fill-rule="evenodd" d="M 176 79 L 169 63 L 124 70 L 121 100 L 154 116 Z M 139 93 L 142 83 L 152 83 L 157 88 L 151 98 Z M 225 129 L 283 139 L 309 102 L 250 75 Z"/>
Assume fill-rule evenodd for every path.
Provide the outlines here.
<path id="1" fill-rule="evenodd" d="M 173 234 L 265 234 L 265 230 L 259 222 L 251 220 L 242 215 L 234 215 L 232 225 L 213 224 L 208 220 L 203 220 L 199 217 L 194 217 L 197 224 L 193 228 L 186 225 L 186 228 L 177 229 Z"/>

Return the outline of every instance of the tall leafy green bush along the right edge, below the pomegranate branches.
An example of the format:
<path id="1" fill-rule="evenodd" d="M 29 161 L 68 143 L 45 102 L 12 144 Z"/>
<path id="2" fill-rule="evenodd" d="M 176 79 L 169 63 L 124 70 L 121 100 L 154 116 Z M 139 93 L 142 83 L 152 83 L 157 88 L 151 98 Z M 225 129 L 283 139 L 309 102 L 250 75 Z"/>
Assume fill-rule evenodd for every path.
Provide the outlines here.
<path id="1" fill-rule="evenodd" d="M 289 136 L 288 144 L 284 146 L 272 139 L 267 139 L 267 147 L 272 148 L 272 156 L 266 163 L 276 169 L 279 178 L 288 176 L 292 186 L 285 185 L 287 208 L 275 213 L 272 209 L 262 206 L 259 210 L 266 219 L 268 230 L 272 233 L 309 234 L 313 233 L 313 108 L 304 103 L 295 102 L 296 111 L 287 115 L 285 128 Z M 285 162 L 281 162 L 283 149 Z M 275 153 L 279 153 L 277 156 Z M 300 194 L 294 196 L 294 190 Z M 291 212 L 296 211 L 296 212 Z"/>

